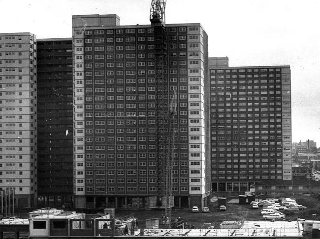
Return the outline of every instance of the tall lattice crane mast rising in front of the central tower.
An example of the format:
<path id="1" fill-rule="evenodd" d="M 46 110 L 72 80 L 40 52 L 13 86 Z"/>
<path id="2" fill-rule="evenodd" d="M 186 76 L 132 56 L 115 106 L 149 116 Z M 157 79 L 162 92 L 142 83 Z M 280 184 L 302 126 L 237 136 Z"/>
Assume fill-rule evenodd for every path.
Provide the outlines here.
<path id="1" fill-rule="evenodd" d="M 150 7 L 150 22 L 155 35 L 155 80 L 156 80 L 156 117 L 157 117 L 157 206 L 164 208 L 164 216 L 170 223 L 172 195 L 172 152 L 171 111 L 165 100 L 165 70 L 166 63 L 166 29 L 165 29 L 166 0 L 152 0 Z M 170 109 L 173 108 L 170 106 Z"/>

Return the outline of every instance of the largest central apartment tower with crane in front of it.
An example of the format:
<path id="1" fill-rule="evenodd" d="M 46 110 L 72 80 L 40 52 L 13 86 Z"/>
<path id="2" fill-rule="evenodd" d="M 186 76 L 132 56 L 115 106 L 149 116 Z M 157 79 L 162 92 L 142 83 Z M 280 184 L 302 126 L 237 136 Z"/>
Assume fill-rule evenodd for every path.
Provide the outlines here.
<path id="1" fill-rule="evenodd" d="M 73 16 L 72 26 L 75 206 L 156 207 L 154 27 L 120 26 L 117 15 Z M 165 35 L 166 112 L 177 94 L 168 129 L 176 133 L 174 205 L 204 206 L 211 189 L 207 34 L 200 24 L 167 24 Z"/>

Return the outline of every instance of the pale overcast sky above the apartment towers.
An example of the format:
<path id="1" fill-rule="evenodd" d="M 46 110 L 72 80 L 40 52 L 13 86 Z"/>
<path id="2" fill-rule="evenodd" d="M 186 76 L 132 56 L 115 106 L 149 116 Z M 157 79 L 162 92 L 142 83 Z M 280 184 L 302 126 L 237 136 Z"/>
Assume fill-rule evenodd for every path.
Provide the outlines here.
<path id="1" fill-rule="evenodd" d="M 117 14 L 120 24 L 149 25 L 151 0 L 0 0 L 0 32 L 72 36 L 71 16 Z M 319 0 L 167 0 L 167 24 L 201 23 L 209 56 L 229 66 L 290 65 L 292 142 L 320 147 Z"/>

